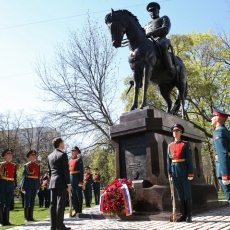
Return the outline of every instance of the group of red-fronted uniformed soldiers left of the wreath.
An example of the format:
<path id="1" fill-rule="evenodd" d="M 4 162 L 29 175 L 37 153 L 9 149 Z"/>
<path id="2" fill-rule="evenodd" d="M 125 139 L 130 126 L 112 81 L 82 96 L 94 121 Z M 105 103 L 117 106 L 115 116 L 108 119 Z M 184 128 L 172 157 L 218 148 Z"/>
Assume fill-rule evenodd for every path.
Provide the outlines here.
<path id="1" fill-rule="evenodd" d="M 69 184 L 71 184 L 71 199 L 75 210 L 73 217 L 82 212 L 83 194 L 87 207 L 92 202 L 92 188 L 95 194 L 95 204 L 99 204 L 100 196 L 100 173 L 99 169 L 94 169 L 94 174 L 90 173 L 91 168 L 85 167 L 83 171 L 83 162 L 80 156 L 80 149 L 74 147 L 72 156 L 68 163 Z M 67 154 L 65 154 L 67 157 Z M 30 150 L 26 154 L 28 163 L 23 166 L 23 173 L 19 185 L 19 191 L 24 208 L 25 222 L 34 221 L 34 206 L 36 195 L 38 196 L 38 205 L 40 208 L 49 208 L 52 203 L 51 189 L 53 187 L 50 177 L 51 169 L 42 174 L 40 165 L 36 163 L 37 152 Z M 7 148 L 2 152 L 5 161 L 0 163 L 0 226 L 11 225 L 9 221 L 10 211 L 14 206 L 14 195 L 17 188 L 17 166 L 12 162 L 13 150 Z M 60 172 L 59 172 L 60 173 Z M 68 186 L 67 186 L 68 187 Z M 65 197 L 64 207 L 69 205 L 69 196 Z M 62 228 L 60 228 L 62 229 Z"/>

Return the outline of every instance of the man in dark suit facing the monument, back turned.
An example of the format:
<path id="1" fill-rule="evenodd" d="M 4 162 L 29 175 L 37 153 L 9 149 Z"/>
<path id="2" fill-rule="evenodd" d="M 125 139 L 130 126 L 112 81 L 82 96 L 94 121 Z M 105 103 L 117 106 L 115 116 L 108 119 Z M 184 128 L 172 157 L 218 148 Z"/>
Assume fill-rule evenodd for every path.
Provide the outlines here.
<path id="1" fill-rule="evenodd" d="M 63 149 L 64 141 L 57 137 L 53 141 L 55 150 L 48 156 L 48 167 L 50 176 L 50 221 L 51 230 L 69 230 L 64 225 L 64 211 L 67 192 L 70 191 L 70 173 L 68 157 Z"/>

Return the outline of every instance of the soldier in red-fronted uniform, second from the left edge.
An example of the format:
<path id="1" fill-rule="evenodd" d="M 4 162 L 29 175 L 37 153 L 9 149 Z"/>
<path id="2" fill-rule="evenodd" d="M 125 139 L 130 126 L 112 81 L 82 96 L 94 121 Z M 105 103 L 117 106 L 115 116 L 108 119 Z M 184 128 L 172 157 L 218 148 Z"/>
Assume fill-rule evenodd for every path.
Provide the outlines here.
<path id="1" fill-rule="evenodd" d="M 34 203 L 39 192 L 40 166 L 36 162 L 36 150 L 30 150 L 26 156 L 30 162 L 24 165 L 22 173 L 21 191 L 24 193 L 24 217 L 25 222 L 34 221 Z"/>

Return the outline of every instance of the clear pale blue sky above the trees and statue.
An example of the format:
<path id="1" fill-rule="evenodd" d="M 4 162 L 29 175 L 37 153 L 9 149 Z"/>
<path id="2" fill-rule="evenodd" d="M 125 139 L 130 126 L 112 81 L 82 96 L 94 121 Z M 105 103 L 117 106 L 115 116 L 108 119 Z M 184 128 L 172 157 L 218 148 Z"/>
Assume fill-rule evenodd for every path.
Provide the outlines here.
<path id="1" fill-rule="evenodd" d="M 148 3 L 146 0 L 0 0 L 0 112 L 24 109 L 35 113 L 35 109 L 47 107 L 39 99 L 42 92 L 36 87 L 35 62 L 39 57 L 52 59 L 54 46 L 67 40 L 68 30 L 82 28 L 86 12 L 107 29 L 104 17 L 110 9 L 127 9 L 144 26 L 151 20 L 146 11 Z M 158 3 L 160 15 L 171 19 L 170 33 L 205 32 L 210 28 L 217 31 L 221 27 L 230 36 L 230 3 L 225 0 Z M 119 49 L 121 80 L 131 73 L 127 54 L 127 47 Z"/>

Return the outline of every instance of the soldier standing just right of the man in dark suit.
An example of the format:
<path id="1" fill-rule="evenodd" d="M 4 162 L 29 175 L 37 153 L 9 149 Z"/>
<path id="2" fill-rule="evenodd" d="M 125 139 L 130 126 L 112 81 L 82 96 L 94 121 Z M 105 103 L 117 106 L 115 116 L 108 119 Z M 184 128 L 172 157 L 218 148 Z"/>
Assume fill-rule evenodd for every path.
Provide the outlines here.
<path id="1" fill-rule="evenodd" d="M 82 186 L 83 186 L 83 162 L 80 157 L 81 150 L 75 146 L 71 150 L 72 159 L 69 161 L 69 171 L 70 171 L 70 183 L 72 186 L 72 199 L 73 199 L 73 207 L 75 213 L 72 217 L 75 217 L 77 213 L 82 213 Z M 79 157 L 78 157 L 79 156 Z"/>

